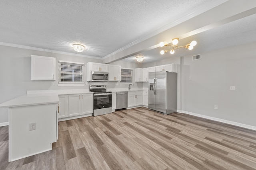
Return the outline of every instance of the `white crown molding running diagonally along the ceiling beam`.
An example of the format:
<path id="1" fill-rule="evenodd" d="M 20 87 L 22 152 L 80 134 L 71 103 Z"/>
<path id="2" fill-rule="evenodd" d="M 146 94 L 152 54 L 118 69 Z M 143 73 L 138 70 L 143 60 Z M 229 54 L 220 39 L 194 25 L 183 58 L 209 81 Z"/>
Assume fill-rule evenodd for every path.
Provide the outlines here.
<path id="1" fill-rule="evenodd" d="M 142 41 L 145 41 L 146 39 L 149 39 L 150 37 L 153 37 L 163 31 L 166 31 L 167 29 L 170 29 L 186 20 L 189 20 L 191 18 L 194 18 L 195 16 L 198 16 L 199 14 L 202 14 L 220 4 L 223 4 L 224 2 L 226 2 L 228 0 L 216 0 L 216 1 L 212 1 L 202 7 L 200 7 L 198 10 L 190 12 L 185 14 L 184 16 L 182 16 L 181 18 L 179 18 L 178 20 L 172 21 L 171 23 L 168 23 L 167 25 L 164 25 L 163 27 L 157 29 L 156 31 L 153 31 L 152 33 L 149 33 L 148 35 L 146 35 L 145 37 L 142 37 L 140 39 L 137 39 L 136 41 L 133 41 L 132 43 L 114 51 L 113 53 L 110 53 L 104 57 L 102 57 L 102 59 L 107 59 L 108 57 L 111 57 L 113 55 L 115 55 L 116 53 L 119 53 L 120 51 L 123 51 L 125 49 L 128 49 L 129 47 L 132 47 L 133 45 L 136 45 L 138 43 L 141 43 Z"/>

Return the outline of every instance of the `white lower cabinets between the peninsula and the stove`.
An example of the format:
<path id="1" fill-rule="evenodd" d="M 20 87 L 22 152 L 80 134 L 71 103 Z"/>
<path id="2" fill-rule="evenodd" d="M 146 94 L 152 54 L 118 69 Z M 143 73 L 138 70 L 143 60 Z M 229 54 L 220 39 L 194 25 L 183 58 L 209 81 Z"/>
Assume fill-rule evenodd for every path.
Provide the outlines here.
<path id="1" fill-rule="evenodd" d="M 59 95 L 59 119 L 93 113 L 93 94 Z"/>

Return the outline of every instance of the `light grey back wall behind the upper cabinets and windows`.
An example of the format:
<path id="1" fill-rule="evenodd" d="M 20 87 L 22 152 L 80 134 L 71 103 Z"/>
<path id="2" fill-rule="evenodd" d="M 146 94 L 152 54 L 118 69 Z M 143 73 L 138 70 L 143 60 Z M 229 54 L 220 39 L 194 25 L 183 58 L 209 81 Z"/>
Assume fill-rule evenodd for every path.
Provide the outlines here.
<path id="1" fill-rule="evenodd" d="M 47 57 L 56 58 L 56 80 L 55 86 L 51 86 L 51 82 L 47 80 L 30 80 L 30 56 L 40 55 Z M 0 104 L 8 100 L 14 99 L 18 96 L 26 94 L 27 90 L 55 90 L 55 89 L 84 89 L 89 88 L 90 84 L 102 84 L 102 82 L 92 83 L 86 86 L 70 86 L 70 87 L 59 87 L 58 86 L 58 60 L 64 61 L 76 61 L 85 63 L 95 62 L 102 63 L 99 59 L 89 59 L 84 57 L 77 57 L 71 55 L 63 55 L 57 53 L 49 53 L 43 51 L 21 49 L 16 47 L 7 47 L 0 45 Z M 114 63 L 112 63 L 114 64 Z M 119 63 L 125 64 L 122 67 L 135 68 L 136 64 Z M 118 65 L 118 64 L 116 64 Z M 86 73 L 85 73 L 86 76 Z M 86 80 L 86 77 L 85 77 Z M 115 82 L 107 82 L 108 88 L 124 88 L 126 86 L 116 85 Z M 133 87 L 142 87 L 142 83 Z M 127 86 L 128 88 L 128 86 Z M 8 122 L 8 108 L 0 109 L 0 123 Z"/>

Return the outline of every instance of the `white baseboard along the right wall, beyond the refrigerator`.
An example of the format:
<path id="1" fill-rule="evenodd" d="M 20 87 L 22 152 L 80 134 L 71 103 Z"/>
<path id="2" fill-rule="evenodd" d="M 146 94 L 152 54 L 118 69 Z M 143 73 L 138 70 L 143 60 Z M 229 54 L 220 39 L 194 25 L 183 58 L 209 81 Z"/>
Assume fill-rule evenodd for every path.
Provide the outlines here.
<path id="1" fill-rule="evenodd" d="M 255 126 L 246 125 L 246 124 L 243 124 L 243 123 L 238 123 L 238 122 L 229 121 L 229 120 L 225 120 L 225 119 L 219 119 L 219 118 L 216 118 L 216 117 L 210 117 L 210 116 L 206 116 L 206 115 L 200 115 L 200 114 L 197 114 L 197 113 L 192 113 L 192 112 L 184 111 L 184 110 L 182 110 L 179 113 L 185 113 L 185 114 L 188 114 L 188 115 L 193 115 L 193 116 L 196 116 L 196 117 L 202 117 L 202 118 L 205 118 L 205 119 L 219 121 L 219 122 L 222 122 L 222 123 L 227 123 L 227 124 L 230 124 L 230 125 L 244 127 L 246 129 L 252 129 L 252 130 L 256 131 L 256 127 Z"/>

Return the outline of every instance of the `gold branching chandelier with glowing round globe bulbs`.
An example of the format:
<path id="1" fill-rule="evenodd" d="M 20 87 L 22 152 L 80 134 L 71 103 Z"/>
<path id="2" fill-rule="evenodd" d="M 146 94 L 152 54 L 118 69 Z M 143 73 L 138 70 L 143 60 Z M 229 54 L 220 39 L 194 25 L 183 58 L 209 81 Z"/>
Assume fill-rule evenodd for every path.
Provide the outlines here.
<path id="1" fill-rule="evenodd" d="M 190 44 L 187 44 L 187 45 L 184 45 L 184 46 L 177 45 L 178 42 L 179 42 L 179 39 L 178 38 L 174 38 L 174 39 L 172 39 L 172 44 L 173 45 L 165 44 L 164 42 L 159 43 L 160 47 L 172 46 L 172 49 L 170 49 L 170 50 L 162 50 L 162 51 L 160 51 L 160 54 L 163 55 L 164 53 L 167 53 L 168 51 L 170 51 L 171 54 L 174 54 L 174 50 L 182 48 L 182 47 L 184 47 L 186 49 L 189 49 L 189 50 L 192 50 L 194 48 L 194 46 L 196 45 L 196 41 L 192 41 Z"/>

